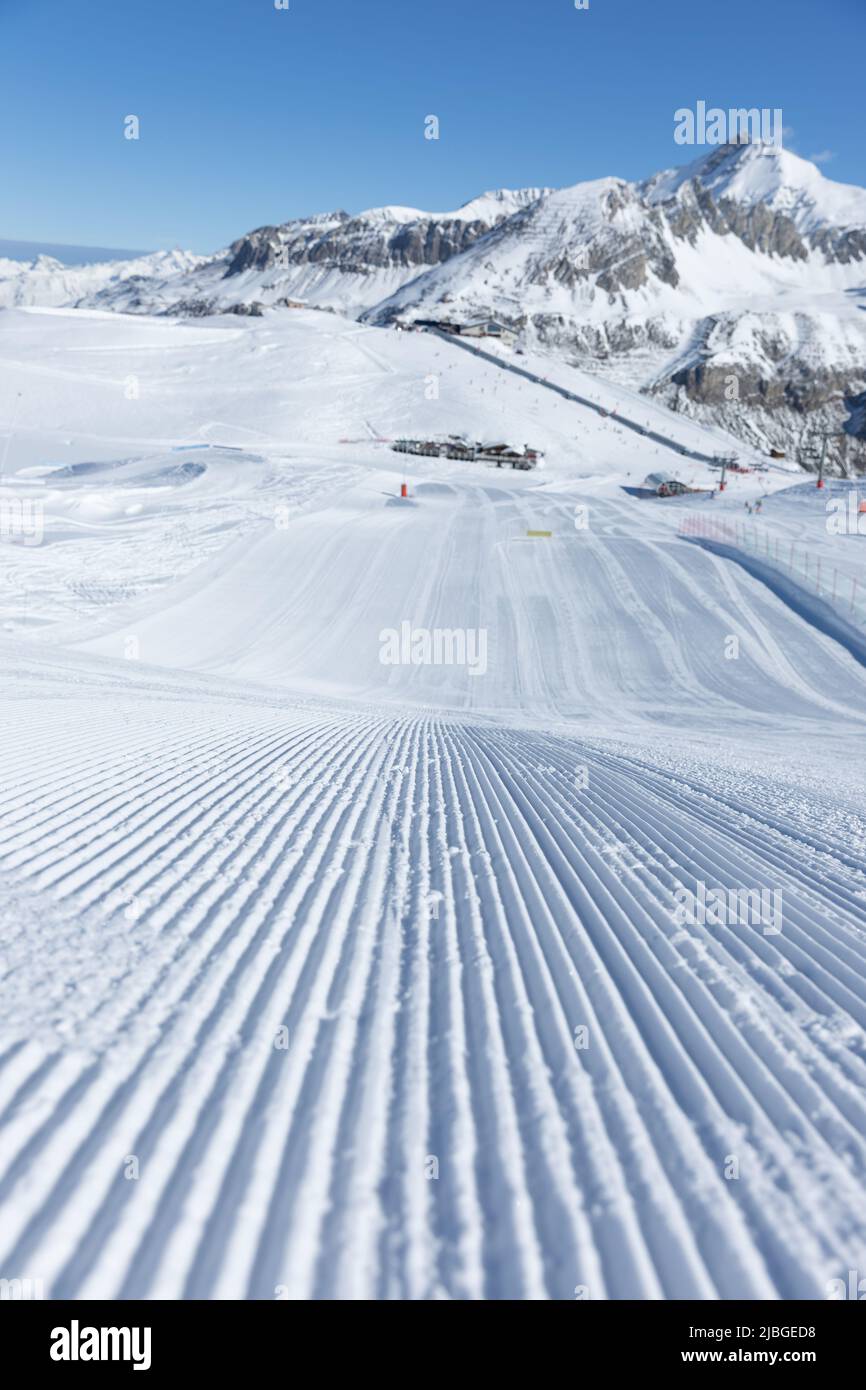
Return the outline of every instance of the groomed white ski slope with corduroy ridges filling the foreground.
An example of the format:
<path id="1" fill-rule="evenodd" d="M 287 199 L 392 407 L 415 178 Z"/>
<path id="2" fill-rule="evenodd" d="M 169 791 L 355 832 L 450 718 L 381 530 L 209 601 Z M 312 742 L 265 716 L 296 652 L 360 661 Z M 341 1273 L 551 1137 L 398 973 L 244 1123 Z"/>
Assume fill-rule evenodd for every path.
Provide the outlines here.
<path id="1" fill-rule="evenodd" d="M 44 619 L 76 546 L 128 537 L 135 589 L 104 480 L 120 520 L 33 552 L 0 639 L 0 1276 L 824 1297 L 866 1258 L 866 669 L 609 459 L 413 460 L 400 503 L 373 445 L 316 495 L 317 448 L 150 495 L 122 602 Z M 214 475 L 224 543 L 157 584 Z M 484 630 L 485 674 L 382 666 L 405 620 Z M 678 922 L 698 883 L 780 894 L 783 930 Z"/>

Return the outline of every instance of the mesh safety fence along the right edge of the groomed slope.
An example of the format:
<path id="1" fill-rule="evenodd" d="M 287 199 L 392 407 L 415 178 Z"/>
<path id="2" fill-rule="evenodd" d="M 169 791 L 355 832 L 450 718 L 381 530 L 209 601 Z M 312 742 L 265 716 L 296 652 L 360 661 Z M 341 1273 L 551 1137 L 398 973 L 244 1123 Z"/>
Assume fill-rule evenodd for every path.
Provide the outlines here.
<path id="1" fill-rule="evenodd" d="M 753 557 L 760 567 L 785 575 L 805 594 L 823 599 L 838 617 L 866 628 L 866 582 L 851 571 L 837 570 L 808 542 L 771 535 L 766 527 L 745 518 L 703 514 L 684 517 L 678 534 L 687 541 L 708 542 Z"/>

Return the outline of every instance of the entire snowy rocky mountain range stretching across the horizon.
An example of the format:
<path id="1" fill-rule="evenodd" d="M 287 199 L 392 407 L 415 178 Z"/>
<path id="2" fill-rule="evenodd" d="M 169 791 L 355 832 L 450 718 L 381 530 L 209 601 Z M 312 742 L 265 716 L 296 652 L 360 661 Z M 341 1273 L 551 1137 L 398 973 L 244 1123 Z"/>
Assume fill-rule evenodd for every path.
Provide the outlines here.
<path id="1" fill-rule="evenodd" d="M 261 227 L 213 257 L 0 263 L 0 304 L 197 317 L 299 303 L 386 327 L 495 317 L 523 346 L 806 460 L 866 467 L 866 190 L 763 145 L 644 182 Z"/>

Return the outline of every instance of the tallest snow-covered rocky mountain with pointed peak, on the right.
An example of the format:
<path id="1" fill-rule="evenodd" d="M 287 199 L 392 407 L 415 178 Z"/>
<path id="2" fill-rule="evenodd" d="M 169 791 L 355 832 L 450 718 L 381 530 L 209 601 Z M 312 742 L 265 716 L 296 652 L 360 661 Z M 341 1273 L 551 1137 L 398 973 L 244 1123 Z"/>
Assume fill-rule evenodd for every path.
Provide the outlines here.
<path id="1" fill-rule="evenodd" d="M 539 197 L 377 307 L 524 341 L 763 446 L 866 466 L 866 190 L 770 146 Z"/>

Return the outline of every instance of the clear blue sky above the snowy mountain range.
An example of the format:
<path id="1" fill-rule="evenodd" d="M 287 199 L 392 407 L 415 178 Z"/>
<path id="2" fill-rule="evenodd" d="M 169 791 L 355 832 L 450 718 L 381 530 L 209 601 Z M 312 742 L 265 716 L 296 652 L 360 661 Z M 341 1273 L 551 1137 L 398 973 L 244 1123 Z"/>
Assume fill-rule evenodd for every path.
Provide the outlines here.
<path id="1" fill-rule="evenodd" d="M 673 113 L 699 99 L 781 107 L 788 147 L 866 185 L 866 0 L 289 3 L 0 0 L 0 236 L 207 252 L 335 207 L 641 178 L 685 163 Z"/>

